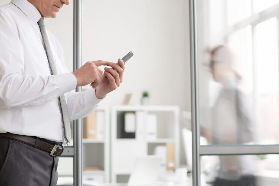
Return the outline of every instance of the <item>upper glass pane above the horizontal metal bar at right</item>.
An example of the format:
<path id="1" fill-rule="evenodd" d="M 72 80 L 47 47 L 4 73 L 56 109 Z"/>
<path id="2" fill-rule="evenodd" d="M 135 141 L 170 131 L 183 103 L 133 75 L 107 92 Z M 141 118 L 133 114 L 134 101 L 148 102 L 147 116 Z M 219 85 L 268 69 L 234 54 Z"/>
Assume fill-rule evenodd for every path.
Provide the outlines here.
<path id="1" fill-rule="evenodd" d="M 248 13 L 251 1 L 207 1 L 207 7 L 202 2 L 197 1 L 201 135 L 215 145 L 278 144 L 277 17 L 258 14 L 252 20 L 257 14 Z M 230 15 L 234 6 L 245 8 L 245 15 Z"/>

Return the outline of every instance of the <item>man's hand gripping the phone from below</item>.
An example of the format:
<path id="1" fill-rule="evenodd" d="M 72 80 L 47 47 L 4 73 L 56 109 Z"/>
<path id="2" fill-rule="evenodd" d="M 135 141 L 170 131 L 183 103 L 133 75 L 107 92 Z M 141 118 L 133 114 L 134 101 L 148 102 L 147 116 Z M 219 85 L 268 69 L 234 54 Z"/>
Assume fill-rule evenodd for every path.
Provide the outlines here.
<path id="1" fill-rule="evenodd" d="M 117 87 L 120 86 L 120 83 L 122 83 L 125 65 L 122 59 L 118 59 L 118 63 L 119 65 L 111 62 L 107 64 L 108 66 L 113 67 L 115 70 L 107 67 L 104 69 L 105 71 L 102 75 L 101 82 L 97 87 L 95 86 L 95 95 L 98 99 L 104 98 L 107 95 L 107 93 L 115 90 Z M 93 85 L 95 84 L 91 83 L 92 87 Z"/>

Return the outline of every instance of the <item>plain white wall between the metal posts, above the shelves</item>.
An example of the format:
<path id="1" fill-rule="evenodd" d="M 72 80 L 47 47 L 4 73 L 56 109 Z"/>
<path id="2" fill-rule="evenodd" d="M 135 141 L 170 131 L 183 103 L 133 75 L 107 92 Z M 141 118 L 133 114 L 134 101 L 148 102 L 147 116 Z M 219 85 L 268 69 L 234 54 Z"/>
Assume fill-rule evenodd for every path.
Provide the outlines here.
<path id="1" fill-rule="evenodd" d="M 142 91 L 152 105 L 190 111 L 189 10 L 185 0 L 83 0 L 82 62 L 117 62 L 129 51 L 122 85 L 102 101 L 119 105 Z"/>

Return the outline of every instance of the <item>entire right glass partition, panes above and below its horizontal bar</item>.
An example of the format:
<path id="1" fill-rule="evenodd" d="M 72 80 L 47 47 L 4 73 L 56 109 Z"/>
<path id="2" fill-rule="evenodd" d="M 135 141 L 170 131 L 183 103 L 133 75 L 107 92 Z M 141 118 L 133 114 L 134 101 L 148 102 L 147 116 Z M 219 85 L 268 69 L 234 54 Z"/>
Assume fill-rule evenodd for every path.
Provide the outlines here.
<path id="1" fill-rule="evenodd" d="M 190 3 L 191 73 L 197 77 L 192 80 L 197 88 L 194 180 L 277 185 L 279 1 Z"/>

